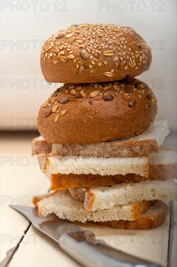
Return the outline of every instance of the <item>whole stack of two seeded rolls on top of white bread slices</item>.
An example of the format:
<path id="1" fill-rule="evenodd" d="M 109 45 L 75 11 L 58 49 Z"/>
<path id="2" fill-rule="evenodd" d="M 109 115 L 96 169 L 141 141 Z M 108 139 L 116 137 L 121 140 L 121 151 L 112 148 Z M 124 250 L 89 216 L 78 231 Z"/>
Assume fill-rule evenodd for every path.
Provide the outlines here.
<path id="1" fill-rule="evenodd" d="M 133 29 L 72 25 L 50 37 L 41 53 L 49 82 L 63 82 L 41 106 L 32 154 L 50 179 L 35 198 L 39 216 L 118 229 L 151 229 L 176 200 L 176 151 L 148 85 L 150 48 Z"/>

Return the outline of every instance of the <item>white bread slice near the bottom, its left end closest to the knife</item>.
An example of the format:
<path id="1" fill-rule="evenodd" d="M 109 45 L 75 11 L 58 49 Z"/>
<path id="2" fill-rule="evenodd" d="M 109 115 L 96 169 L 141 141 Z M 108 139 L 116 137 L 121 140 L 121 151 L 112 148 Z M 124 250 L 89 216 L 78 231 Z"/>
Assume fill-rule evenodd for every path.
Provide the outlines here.
<path id="1" fill-rule="evenodd" d="M 107 210 L 85 211 L 83 202 L 74 200 L 68 190 L 55 191 L 47 198 L 37 202 L 39 217 L 55 213 L 59 218 L 70 221 L 108 221 L 135 220 L 152 205 L 152 201 L 140 201 L 128 205 L 119 205 Z"/>

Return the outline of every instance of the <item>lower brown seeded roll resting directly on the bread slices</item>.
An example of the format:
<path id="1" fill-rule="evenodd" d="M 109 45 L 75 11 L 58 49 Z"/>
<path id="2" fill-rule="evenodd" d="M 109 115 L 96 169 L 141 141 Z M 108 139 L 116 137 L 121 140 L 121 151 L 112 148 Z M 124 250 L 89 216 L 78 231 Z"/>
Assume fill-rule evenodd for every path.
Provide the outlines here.
<path id="1" fill-rule="evenodd" d="M 41 106 L 38 130 L 49 143 L 125 139 L 147 130 L 156 111 L 152 90 L 134 78 L 112 83 L 65 83 Z"/>

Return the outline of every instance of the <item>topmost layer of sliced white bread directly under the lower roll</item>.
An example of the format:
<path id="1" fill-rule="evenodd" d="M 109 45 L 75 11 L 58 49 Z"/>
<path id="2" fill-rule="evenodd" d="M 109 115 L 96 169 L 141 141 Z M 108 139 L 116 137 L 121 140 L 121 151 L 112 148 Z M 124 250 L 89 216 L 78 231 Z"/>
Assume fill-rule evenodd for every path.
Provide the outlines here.
<path id="1" fill-rule="evenodd" d="M 82 157 L 131 157 L 159 151 L 159 146 L 169 134 L 167 121 L 161 118 L 138 136 L 118 141 L 95 144 L 50 144 L 42 136 L 32 140 L 32 155 L 57 154 Z"/>

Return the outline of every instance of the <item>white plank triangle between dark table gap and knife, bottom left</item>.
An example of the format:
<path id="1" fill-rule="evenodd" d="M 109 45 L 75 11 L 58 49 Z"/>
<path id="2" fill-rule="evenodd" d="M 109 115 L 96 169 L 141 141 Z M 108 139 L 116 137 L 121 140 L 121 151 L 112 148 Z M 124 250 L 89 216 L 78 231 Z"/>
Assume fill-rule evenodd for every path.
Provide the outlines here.
<path id="1" fill-rule="evenodd" d="M 30 227 L 8 267 L 79 267 L 51 238 Z"/>

